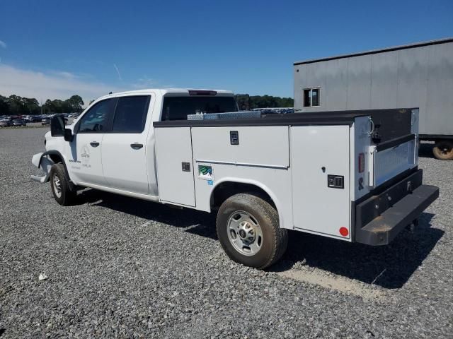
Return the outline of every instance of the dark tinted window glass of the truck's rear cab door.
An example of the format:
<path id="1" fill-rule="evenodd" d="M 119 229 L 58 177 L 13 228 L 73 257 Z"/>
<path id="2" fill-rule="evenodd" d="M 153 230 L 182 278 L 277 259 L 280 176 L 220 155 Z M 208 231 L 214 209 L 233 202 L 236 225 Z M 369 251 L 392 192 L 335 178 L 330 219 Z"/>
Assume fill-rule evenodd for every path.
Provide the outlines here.
<path id="1" fill-rule="evenodd" d="M 149 95 L 120 97 L 116 104 L 112 132 L 142 133 L 150 99 Z"/>

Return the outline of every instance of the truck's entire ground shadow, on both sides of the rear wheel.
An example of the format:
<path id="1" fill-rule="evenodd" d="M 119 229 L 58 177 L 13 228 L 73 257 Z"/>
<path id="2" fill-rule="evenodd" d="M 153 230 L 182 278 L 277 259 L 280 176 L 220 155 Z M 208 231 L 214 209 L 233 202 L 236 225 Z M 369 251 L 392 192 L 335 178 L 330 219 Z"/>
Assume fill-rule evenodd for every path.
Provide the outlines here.
<path id="1" fill-rule="evenodd" d="M 178 227 L 183 232 L 217 240 L 214 214 L 190 209 L 179 210 L 93 189 L 82 191 L 78 201 L 162 222 Z M 430 227 L 433 216 L 430 213 L 420 215 L 415 231 L 403 230 L 389 246 L 350 244 L 290 231 L 286 254 L 269 270 L 284 272 L 305 266 L 387 289 L 401 288 L 444 234 L 444 231 Z"/>

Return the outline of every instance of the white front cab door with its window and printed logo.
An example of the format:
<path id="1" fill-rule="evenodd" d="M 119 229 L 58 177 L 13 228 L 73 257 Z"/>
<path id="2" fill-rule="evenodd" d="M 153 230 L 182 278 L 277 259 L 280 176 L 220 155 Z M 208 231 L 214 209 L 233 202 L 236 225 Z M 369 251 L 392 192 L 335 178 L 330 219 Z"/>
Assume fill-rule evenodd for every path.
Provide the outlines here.
<path id="1" fill-rule="evenodd" d="M 107 186 L 102 169 L 102 143 L 108 129 L 113 100 L 103 100 L 80 118 L 69 147 L 69 167 L 77 183 Z"/>

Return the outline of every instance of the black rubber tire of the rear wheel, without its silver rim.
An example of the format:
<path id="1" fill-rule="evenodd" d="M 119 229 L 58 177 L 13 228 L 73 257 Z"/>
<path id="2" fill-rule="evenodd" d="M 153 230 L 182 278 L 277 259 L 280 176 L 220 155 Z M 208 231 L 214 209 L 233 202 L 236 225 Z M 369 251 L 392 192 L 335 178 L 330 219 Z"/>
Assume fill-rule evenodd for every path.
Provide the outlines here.
<path id="1" fill-rule="evenodd" d="M 230 240 L 230 220 L 241 213 L 251 216 L 251 220 L 256 221 L 262 234 L 260 249 L 256 254 L 243 254 L 244 251 L 236 249 L 234 241 Z M 278 220 L 277 210 L 262 198 L 251 194 L 236 194 L 226 199 L 219 208 L 216 221 L 217 237 L 231 260 L 245 266 L 264 269 L 277 262 L 287 248 L 288 232 L 280 228 Z M 239 233 L 236 237 L 239 237 Z M 244 246 L 244 249 L 246 247 Z"/>

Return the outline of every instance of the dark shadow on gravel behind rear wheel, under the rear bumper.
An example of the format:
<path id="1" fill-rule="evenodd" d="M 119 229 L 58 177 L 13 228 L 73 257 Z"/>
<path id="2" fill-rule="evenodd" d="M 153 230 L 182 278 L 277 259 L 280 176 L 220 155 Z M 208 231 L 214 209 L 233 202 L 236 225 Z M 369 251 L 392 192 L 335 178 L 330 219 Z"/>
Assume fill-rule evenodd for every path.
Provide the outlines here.
<path id="1" fill-rule="evenodd" d="M 403 230 L 388 246 L 350 244 L 291 232 L 288 250 L 272 270 L 306 266 L 386 289 L 401 288 L 445 233 L 430 227 L 433 216 L 423 213 L 414 232 Z"/>

